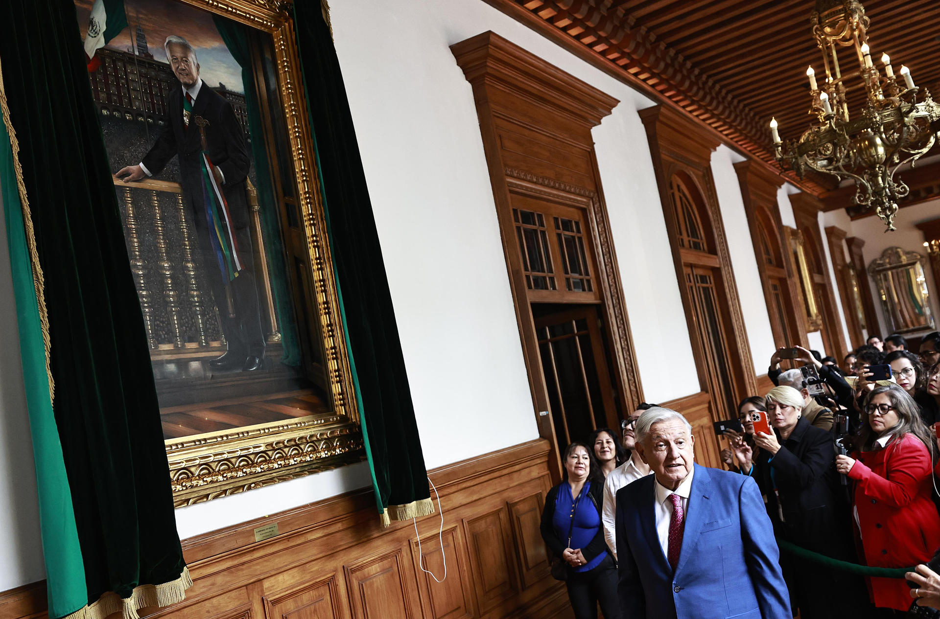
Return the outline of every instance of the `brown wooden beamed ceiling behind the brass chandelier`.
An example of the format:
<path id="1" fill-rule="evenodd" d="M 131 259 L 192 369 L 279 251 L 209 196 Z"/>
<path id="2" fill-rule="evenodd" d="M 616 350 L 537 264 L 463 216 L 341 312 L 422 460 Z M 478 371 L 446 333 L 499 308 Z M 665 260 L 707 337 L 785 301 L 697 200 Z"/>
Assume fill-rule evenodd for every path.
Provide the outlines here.
<path id="1" fill-rule="evenodd" d="M 771 116 L 784 139 L 810 126 L 807 66 L 824 74 L 810 33 L 814 0 L 485 1 L 777 170 Z M 940 1 L 863 5 L 878 66 L 886 52 L 895 70 L 907 66 L 917 85 L 940 97 Z M 850 109 L 858 110 L 860 87 L 854 97 Z M 844 194 L 832 177 L 784 176 L 830 203 Z"/>

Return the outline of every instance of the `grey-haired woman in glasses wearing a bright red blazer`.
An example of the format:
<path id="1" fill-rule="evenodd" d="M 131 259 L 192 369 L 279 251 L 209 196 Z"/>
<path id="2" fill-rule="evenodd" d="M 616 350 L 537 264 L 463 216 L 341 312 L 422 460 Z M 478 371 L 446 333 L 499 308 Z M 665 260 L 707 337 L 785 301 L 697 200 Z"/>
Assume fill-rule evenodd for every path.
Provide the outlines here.
<path id="1" fill-rule="evenodd" d="M 836 467 L 855 482 L 853 513 L 868 565 L 927 563 L 940 547 L 940 516 L 931 500 L 927 426 L 914 399 L 897 385 L 876 387 L 865 402 L 861 452 L 838 456 Z M 903 579 L 870 579 L 871 601 L 906 611 Z"/>

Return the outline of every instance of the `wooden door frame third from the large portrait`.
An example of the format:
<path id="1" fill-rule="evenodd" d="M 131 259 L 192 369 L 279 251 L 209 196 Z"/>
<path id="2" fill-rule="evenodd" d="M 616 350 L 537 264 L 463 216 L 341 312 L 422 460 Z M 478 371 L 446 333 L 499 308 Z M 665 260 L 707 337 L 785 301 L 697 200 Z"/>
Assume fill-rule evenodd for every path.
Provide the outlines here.
<path id="1" fill-rule="evenodd" d="M 793 261 L 790 259 L 790 243 L 784 234 L 780 208 L 776 201 L 776 192 L 783 186 L 784 179 L 763 166 L 755 164 L 750 159 L 735 163 L 734 171 L 738 174 L 738 182 L 741 185 L 744 213 L 747 216 L 747 227 L 751 232 L 751 244 L 754 247 L 754 258 L 758 263 L 760 286 L 763 288 L 767 314 L 771 318 L 774 343 L 778 348 L 794 345 L 807 348 L 809 338 L 807 337 L 807 320 L 803 311 L 802 293 L 799 289 L 800 283 L 796 272 L 793 270 Z M 763 255 L 760 254 L 760 227 L 763 225 L 761 220 L 766 221 L 770 226 L 770 229 L 766 230 L 767 235 L 772 242 L 776 240 L 776 250 L 786 272 L 786 288 L 781 290 L 784 297 L 785 315 L 780 318 L 786 322 L 787 331 L 795 336 L 796 339 L 793 342 L 784 341 L 783 333 L 774 324 L 773 315 L 775 310 L 773 308 L 775 303 L 773 291 L 771 290 L 771 273 L 764 263 Z"/>

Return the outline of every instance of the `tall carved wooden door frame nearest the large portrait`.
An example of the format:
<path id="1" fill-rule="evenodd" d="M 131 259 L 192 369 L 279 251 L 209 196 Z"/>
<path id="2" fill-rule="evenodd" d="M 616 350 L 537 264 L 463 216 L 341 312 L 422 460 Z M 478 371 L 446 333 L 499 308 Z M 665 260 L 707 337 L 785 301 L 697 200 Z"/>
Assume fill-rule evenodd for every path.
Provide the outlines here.
<path id="1" fill-rule="evenodd" d="M 561 475 L 561 459 L 555 449 L 555 429 L 512 220 L 510 192 L 541 195 L 586 209 L 597 267 L 596 281 L 603 293 L 605 344 L 610 351 L 614 386 L 623 410 L 635 410 L 643 401 L 643 389 L 590 132 L 619 101 L 493 32 L 455 43 L 450 50 L 473 88 L 529 390 L 540 436 L 553 445 L 550 468 L 557 480 Z M 518 128 L 519 132 L 538 134 L 559 145 L 578 162 L 586 163 L 587 172 L 572 175 L 570 169 L 544 160 L 540 161 L 538 169 L 534 164 L 531 168 L 510 165 L 502 139 L 507 126 Z M 571 178 L 578 181 L 572 182 Z"/>

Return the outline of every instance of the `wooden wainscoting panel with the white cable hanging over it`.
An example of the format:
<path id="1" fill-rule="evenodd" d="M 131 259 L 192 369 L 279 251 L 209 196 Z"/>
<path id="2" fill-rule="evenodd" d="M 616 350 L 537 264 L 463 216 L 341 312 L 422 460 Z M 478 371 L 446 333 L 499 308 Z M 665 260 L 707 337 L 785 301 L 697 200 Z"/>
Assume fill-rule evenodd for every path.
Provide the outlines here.
<path id="1" fill-rule="evenodd" d="M 412 540 L 412 556 L 424 616 L 428 619 L 470 619 L 474 616 L 473 582 L 470 580 L 462 529 L 454 526 L 440 536 L 422 534 L 422 537 L 424 542 L 420 547 L 416 539 Z M 431 574 L 423 571 L 422 565 Z"/>

